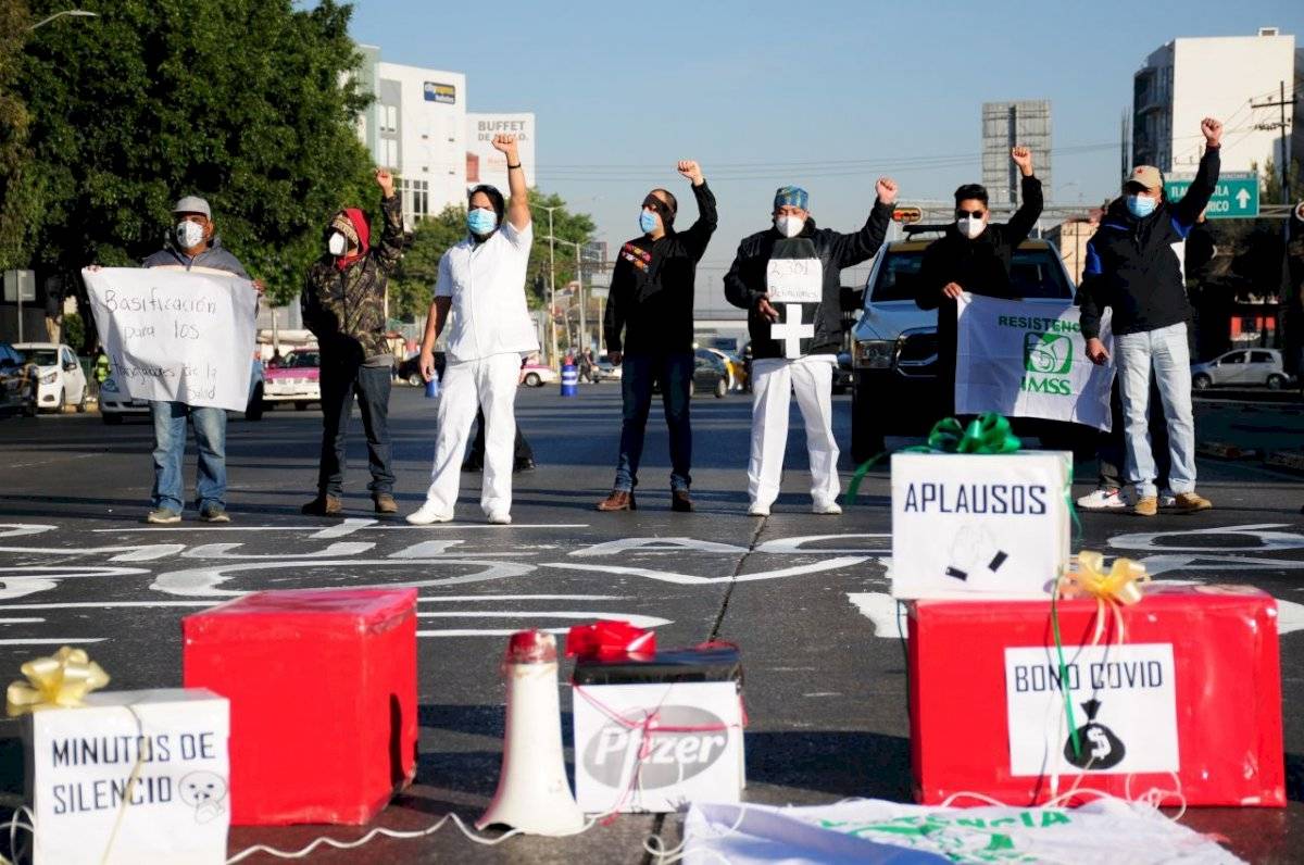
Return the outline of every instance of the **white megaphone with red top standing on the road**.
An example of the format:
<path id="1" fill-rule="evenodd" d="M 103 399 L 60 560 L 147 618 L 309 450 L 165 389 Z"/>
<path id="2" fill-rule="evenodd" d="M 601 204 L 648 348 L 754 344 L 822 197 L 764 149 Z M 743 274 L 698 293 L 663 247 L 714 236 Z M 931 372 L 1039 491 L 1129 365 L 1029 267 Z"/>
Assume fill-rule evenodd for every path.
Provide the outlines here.
<path id="1" fill-rule="evenodd" d="M 574 835 L 584 830 L 562 757 L 557 701 L 557 638 L 537 630 L 511 635 L 503 658 L 507 736 L 498 792 L 476 828 L 494 823 L 527 835 Z"/>

